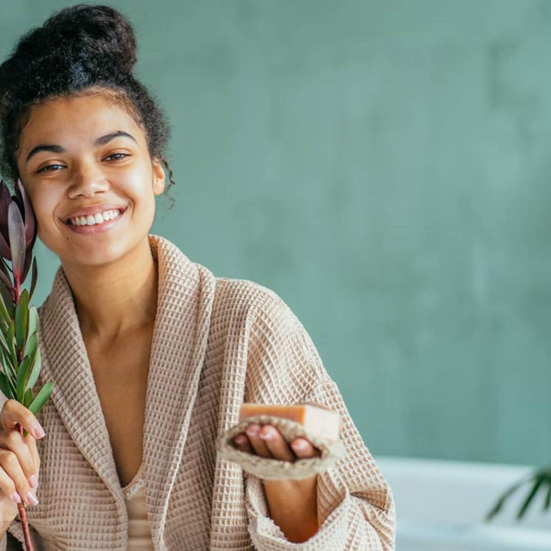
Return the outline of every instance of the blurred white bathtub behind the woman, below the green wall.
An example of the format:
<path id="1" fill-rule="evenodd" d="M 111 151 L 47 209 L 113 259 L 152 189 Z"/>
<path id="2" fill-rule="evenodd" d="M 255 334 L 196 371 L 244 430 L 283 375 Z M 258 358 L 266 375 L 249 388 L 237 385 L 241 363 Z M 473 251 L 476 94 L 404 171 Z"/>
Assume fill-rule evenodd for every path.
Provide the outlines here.
<path id="1" fill-rule="evenodd" d="M 490 523 L 485 514 L 533 467 L 375 457 L 396 500 L 396 551 L 551 551 L 551 509 L 539 490 L 522 521 L 525 484 Z M 551 463 L 551 461 L 550 461 Z"/>

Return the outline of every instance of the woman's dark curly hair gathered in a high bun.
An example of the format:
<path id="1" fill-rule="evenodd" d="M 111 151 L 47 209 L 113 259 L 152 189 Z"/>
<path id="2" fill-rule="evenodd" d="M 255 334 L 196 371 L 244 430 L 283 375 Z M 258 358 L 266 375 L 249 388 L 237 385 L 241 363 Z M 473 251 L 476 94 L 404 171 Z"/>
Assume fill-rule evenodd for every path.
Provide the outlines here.
<path id="1" fill-rule="evenodd" d="M 64 8 L 20 37 L 0 65 L 0 172 L 12 182 L 16 152 L 31 107 L 58 98 L 101 95 L 124 107 L 143 129 L 149 155 L 172 170 L 163 150 L 170 125 L 148 90 L 132 75 L 136 36 L 132 25 L 109 6 Z M 174 199 L 170 198 L 174 204 Z"/>

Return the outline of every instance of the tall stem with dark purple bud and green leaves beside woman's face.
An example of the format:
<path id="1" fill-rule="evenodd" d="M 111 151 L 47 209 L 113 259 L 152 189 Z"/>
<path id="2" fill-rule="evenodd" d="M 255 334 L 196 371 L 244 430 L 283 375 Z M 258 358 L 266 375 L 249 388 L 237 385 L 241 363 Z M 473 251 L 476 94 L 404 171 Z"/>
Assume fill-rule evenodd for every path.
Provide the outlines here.
<path id="1" fill-rule="evenodd" d="M 35 213 L 21 180 L 17 180 L 14 196 L 10 196 L 8 186 L 0 180 L 0 390 L 35 416 L 53 389 L 53 381 L 48 381 L 36 397 L 33 394 L 40 373 L 39 317 L 35 306 L 29 308 L 38 276 L 36 258 L 32 259 L 30 291 L 21 291 L 31 267 L 36 233 Z M 23 437 L 28 434 L 19 423 L 17 430 Z M 25 547 L 32 551 L 22 501 L 18 503 L 18 511 Z"/>

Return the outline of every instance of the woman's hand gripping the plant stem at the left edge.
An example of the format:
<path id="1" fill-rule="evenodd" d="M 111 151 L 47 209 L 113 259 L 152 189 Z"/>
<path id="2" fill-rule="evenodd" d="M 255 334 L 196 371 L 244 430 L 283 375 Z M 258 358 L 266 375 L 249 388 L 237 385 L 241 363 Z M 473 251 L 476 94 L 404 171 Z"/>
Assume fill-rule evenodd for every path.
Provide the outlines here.
<path id="1" fill-rule="evenodd" d="M 28 432 L 25 437 L 19 434 L 18 423 Z M 43 433 L 34 414 L 23 404 L 13 398 L 4 403 L 0 412 L 0 521 L 5 527 L 17 517 L 21 498 L 28 505 L 38 503 L 35 488 L 40 457 L 36 440 L 44 436 Z M 34 487 L 31 485 L 35 482 L 31 478 L 33 475 L 36 477 Z"/>

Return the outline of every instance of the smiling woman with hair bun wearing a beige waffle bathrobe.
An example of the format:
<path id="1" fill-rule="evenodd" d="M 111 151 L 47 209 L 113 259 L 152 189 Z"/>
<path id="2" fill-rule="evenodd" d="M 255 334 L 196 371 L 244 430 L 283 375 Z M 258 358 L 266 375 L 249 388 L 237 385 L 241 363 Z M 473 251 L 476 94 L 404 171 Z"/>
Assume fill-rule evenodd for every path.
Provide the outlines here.
<path id="1" fill-rule="evenodd" d="M 36 387 L 55 387 L 39 419 L 4 403 L 0 487 L 32 494 L 39 475 L 27 515 L 45 549 L 393 549 L 390 488 L 298 318 L 273 291 L 214 277 L 148 233 L 163 166 L 171 176 L 169 126 L 135 62 L 128 21 L 79 4 L 0 67 L 1 168 L 61 261 L 39 309 Z M 264 481 L 217 457 L 241 403 L 305 401 L 341 415 L 334 467 Z M 8 439 L 16 419 L 46 437 Z M 236 445 L 281 461 L 319 453 L 270 425 Z M 14 467 L 12 452 L 33 463 Z M 23 541 L 14 516 L 0 549 Z"/>

